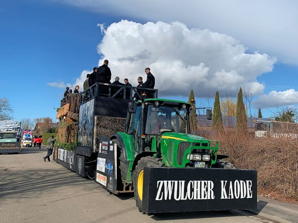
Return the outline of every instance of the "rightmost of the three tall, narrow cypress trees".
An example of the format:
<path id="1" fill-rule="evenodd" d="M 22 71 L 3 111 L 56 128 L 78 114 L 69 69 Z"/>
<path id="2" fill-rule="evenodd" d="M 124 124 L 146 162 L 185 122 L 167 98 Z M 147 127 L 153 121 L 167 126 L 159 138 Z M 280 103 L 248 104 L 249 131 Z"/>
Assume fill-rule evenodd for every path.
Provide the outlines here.
<path id="1" fill-rule="evenodd" d="M 237 98 L 237 111 L 236 111 L 236 130 L 247 131 L 247 116 L 245 106 L 243 103 L 242 89 L 240 88 Z"/>

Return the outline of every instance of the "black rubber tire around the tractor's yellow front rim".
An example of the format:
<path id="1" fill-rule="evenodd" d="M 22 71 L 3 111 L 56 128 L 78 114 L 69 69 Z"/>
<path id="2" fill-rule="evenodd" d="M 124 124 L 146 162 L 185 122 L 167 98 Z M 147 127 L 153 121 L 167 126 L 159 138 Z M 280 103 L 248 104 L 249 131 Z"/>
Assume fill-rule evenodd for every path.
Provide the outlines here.
<path id="1" fill-rule="evenodd" d="M 133 179 L 133 186 L 134 186 L 134 198 L 136 200 L 136 206 L 139 208 L 139 211 L 142 212 L 142 214 L 145 214 L 144 211 L 142 211 L 142 199 L 139 196 L 138 191 L 138 177 L 140 173 L 144 170 L 144 167 L 163 167 L 164 163 L 162 163 L 162 159 L 146 156 L 141 157 L 141 159 L 138 161 L 138 165 L 136 165 L 136 169 L 133 171 L 132 179 Z"/>

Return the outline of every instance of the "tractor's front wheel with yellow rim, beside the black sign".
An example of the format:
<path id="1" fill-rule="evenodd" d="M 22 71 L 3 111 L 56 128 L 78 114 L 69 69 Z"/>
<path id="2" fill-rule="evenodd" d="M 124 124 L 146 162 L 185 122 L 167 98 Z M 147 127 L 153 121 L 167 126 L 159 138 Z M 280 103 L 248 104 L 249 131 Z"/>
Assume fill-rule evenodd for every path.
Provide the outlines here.
<path id="1" fill-rule="evenodd" d="M 151 156 L 141 157 L 136 165 L 136 169 L 133 172 L 133 185 L 134 185 L 134 197 L 136 199 L 136 206 L 142 214 L 142 199 L 143 199 L 143 178 L 144 167 L 163 167 L 162 159 L 158 159 Z"/>

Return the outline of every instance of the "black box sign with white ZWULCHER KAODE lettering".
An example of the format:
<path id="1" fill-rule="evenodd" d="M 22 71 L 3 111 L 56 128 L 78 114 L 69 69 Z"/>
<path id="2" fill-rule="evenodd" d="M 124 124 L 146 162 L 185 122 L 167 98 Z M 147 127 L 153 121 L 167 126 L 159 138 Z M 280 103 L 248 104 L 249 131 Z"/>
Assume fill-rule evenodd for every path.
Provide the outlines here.
<path id="1" fill-rule="evenodd" d="M 146 213 L 254 209 L 257 171 L 207 168 L 144 168 Z"/>

